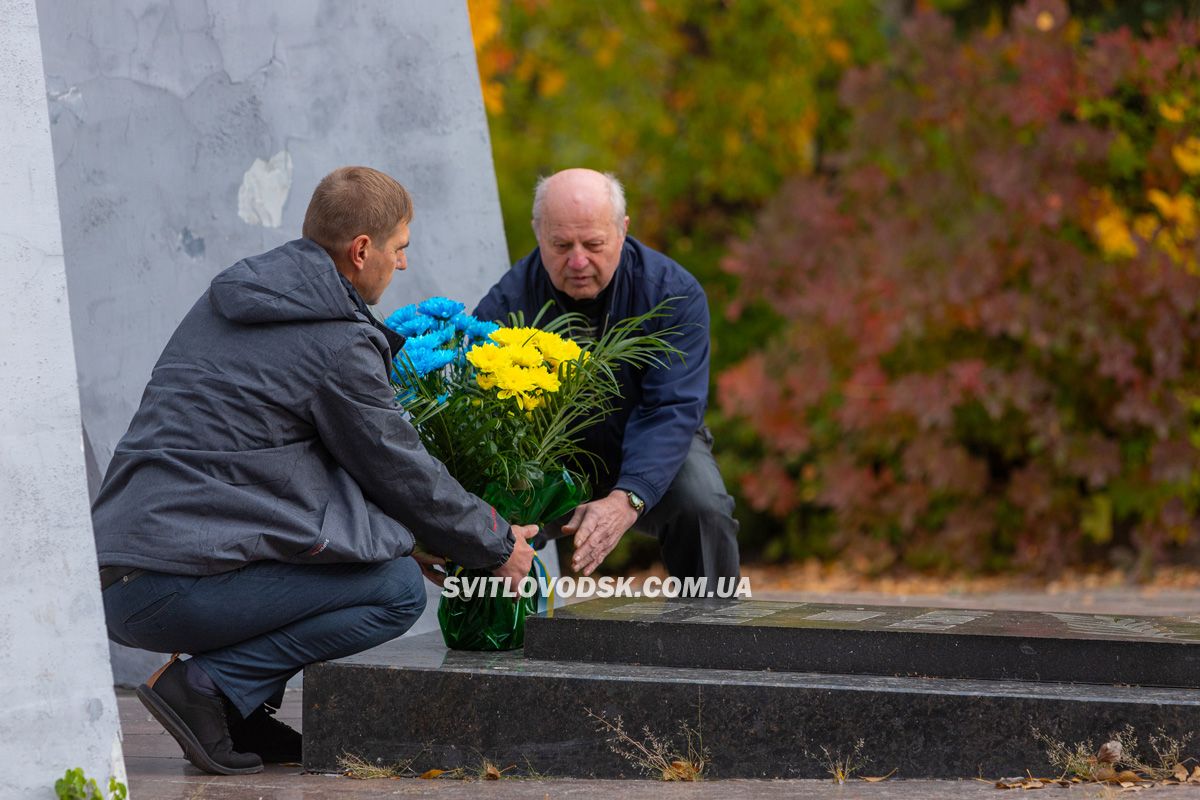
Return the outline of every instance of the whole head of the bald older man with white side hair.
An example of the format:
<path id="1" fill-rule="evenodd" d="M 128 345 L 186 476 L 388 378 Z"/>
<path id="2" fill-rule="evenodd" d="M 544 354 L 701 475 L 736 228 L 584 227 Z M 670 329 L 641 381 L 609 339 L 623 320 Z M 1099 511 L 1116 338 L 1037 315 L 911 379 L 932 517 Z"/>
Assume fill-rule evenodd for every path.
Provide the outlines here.
<path id="1" fill-rule="evenodd" d="M 575 300 L 599 295 L 620 264 L 629 217 L 620 182 L 593 169 L 564 169 L 538 181 L 533 231 L 556 289 Z"/>

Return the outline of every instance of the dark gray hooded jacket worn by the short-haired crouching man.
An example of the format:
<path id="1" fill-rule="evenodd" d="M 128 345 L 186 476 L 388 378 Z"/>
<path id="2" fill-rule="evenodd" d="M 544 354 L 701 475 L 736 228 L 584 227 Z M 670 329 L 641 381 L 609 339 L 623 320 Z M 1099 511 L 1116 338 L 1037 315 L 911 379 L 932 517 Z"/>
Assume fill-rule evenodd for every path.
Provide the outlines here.
<path id="1" fill-rule="evenodd" d="M 512 533 L 421 446 L 388 339 L 300 239 L 239 261 L 155 365 L 92 507 L 102 566 L 214 575 L 248 561 L 425 549 L 496 569 Z"/>

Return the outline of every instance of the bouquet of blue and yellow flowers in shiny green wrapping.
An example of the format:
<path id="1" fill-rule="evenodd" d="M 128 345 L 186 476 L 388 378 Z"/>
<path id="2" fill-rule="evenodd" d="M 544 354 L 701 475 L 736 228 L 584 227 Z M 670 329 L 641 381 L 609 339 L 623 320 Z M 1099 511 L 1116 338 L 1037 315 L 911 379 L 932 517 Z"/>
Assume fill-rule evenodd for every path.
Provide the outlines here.
<path id="1" fill-rule="evenodd" d="M 550 522 L 589 499 L 582 465 L 594 456 L 580 447 L 580 434 L 613 409 L 617 367 L 665 366 L 683 355 L 667 341 L 671 329 L 642 333 L 666 306 L 623 320 L 584 347 L 563 335 L 581 321 L 577 314 L 544 327 L 514 315 L 500 326 L 445 297 L 404 306 L 385 320 L 406 337 L 392 371 L 396 399 L 426 450 L 463 488 L 510 523 Z M 448 572 L 490 575 L 455 565 Z M 536 596 L 443 595 L 438 621 L 450 648 L 514 649 L 524 643 L 524 618 L 536 603 Z"/>

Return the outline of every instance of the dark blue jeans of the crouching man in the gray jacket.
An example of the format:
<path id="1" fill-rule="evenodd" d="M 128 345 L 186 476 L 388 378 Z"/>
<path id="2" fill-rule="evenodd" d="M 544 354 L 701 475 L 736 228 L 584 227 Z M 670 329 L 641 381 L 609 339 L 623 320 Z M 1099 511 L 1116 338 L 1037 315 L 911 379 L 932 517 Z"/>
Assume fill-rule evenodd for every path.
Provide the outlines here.
<path id="1" fill-rule="evenodd" d="M 292 675 L 396 638 L 425 609 L 410 558 L 296 566 L 254 561 L 221 575 L 145 572 L 104 590 L 109 637 L 187 652 L 241 715 L 278 706 Z"/>

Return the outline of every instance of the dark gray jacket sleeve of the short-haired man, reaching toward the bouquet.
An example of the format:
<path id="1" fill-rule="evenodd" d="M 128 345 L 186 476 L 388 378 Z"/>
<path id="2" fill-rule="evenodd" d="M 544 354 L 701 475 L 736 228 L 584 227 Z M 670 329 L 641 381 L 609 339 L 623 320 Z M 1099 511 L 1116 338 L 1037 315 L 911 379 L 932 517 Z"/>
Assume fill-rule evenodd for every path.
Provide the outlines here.
<path id="1" fill-rule="evenodd" d="M 430 552 L 494 570 L 512 553 L 509 523 L 467 492 L 404 419 L 364 327 L 336 354 L 313 396 L 317 433 L 372 503 Z"/>

